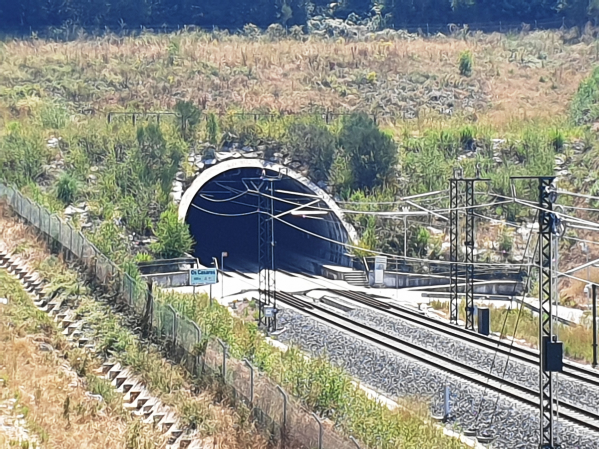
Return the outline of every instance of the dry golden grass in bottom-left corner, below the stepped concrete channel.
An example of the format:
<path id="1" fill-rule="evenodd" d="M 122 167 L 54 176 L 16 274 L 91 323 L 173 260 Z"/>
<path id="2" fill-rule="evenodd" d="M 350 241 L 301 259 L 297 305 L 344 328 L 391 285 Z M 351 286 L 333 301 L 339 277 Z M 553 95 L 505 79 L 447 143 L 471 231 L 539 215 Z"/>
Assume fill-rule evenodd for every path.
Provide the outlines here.
<path id="1" fill-rule="evenodd" d="M 34 306 L 27 303 L 29 298 L 19 283 L 1 274 L 0 296 L 9 302 L 0 305 L 0 404 L 4 405 L 0 414 L 8 423 L 17 420 L 22 428 L 27 427 L 29 435 L 0 433 L 0 447 L 19 440 L 20 447 L 27 447 L 23 441 L 29 447 L 61 449 L 142 449 L 149 441 L 161 447 L 164 438 L 151 428 L 140 428 L 141 424 L 127 418 L 121 408 L 87 396 L 84 381 L 59 351 L 41 350 L 44 344 L 57 345 L 60 337 L 47 326 L 47 320 L 32 314 Z M 44 324 L 43 333 L 31 333 L 32 327 Z"/>

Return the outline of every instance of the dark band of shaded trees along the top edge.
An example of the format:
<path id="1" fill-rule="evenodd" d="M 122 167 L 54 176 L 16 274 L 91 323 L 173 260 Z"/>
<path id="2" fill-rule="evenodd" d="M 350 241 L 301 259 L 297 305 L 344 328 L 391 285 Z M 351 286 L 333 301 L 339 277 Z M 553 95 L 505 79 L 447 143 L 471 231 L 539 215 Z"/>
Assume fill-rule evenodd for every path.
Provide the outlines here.
<path id="1" fill-rule="evenodd" d="M 521 22 L 535 23 L 567 19 L 581 24 L 597 19 L 599 5 L 588 0 L 68 0 L 48 2 L 29 0 L 5 2 L 2 5 L 2 25 L 8 32 L 29 31 L 44 27 L 72 29 L 136 29 L 171 28 L 198 25 L 211 29 L 241 29 L 248 23 L 267 28 L 273 23 L 283 26 L 304 26 L 311 16 L 346 19 L 348 16 L 375 17 L 379 25 L 401 28 L 447 23 L 471 23 L 474 26 Z M 354 19 L 354 20 L 356 20 Z"/>

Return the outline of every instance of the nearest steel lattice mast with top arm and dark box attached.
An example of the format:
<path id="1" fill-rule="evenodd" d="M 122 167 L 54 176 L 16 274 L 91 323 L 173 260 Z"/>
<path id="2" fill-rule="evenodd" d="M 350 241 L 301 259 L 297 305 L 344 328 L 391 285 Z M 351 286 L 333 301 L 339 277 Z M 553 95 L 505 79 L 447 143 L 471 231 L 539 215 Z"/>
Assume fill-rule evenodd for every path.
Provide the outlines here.
<path id="1" fill-rule="evenodd" d="M 553 335 L 553 302 L 557 298 L 555 283 L 555 235 L 559 219 L 553 213 L 557 193 L 555 176 L 512 177 L 539 180 L 539 391 L 540 391 L 540 449 L 558 449 L 555 442 L 557 407 L 553 391 L 553 372 L 562 371 L 563 347 Z"/>

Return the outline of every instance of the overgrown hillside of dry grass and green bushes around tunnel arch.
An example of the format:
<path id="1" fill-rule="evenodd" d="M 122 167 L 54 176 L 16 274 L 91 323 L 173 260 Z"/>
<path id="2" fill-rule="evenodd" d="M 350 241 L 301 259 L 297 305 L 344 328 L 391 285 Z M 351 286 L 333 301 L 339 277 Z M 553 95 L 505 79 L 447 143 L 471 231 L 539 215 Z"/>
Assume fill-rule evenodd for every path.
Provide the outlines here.
<path id="1" fill-rule="evenodd" d="M 477 187 L 477 201 L 496 203 L 480 214 L 532 220 L 530 208 L 502 203 L 512 195 L 510 176 L 557 166 L 560 187 L 599 189 L 598 77 L 583 80 L 597 48 L 561 37 L 365 43 L 180 32 L 13 41 L 0 48 L 0 177 L 66 214 L 118 263 L 192 247 L 169 210 L 172 182 L 189 181 L 196 156 L 213 157 L 232 142 L 294 161 L 349 202 L 344 207 L 364 212 L 397 207 L 372 202 L 446 189 L 454 168 L 469 176 L 479 165 L 491 183 Z M 173 115 L 107 120 L 123 111 Z M 515 187 L 519 198 L 536 200 L 533 183 Z M 447 197 L 426 205 L 443 209 Z M 404 254 L 403 220 L 350 220 L 365 250 Z M 406 225 L 408 256 L 443 256 L 443 236 L 427 229 L 443 222 L 410 217 Z M 480 235 L 501 242 L 482 259 L 512 256 L 515 239 L 504 228 Z M 576 242 L 564 242 L 571 252 Z"/>

